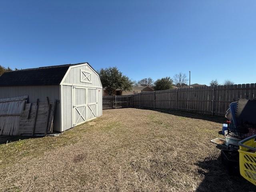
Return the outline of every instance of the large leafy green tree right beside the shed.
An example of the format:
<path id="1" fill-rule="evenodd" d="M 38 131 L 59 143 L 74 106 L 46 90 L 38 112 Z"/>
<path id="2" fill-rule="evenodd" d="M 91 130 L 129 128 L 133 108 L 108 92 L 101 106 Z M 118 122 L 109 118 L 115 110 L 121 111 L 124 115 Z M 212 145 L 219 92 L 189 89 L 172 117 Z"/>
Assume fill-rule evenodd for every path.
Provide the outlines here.
<path id="1" fill-rule="evenodd" d="M 111 95 L 116 89 L 122 91 L 132 90 L 132 81 L 122 74 L 116 67 L 100 69 L 98 72 L 103 88 Z"/>

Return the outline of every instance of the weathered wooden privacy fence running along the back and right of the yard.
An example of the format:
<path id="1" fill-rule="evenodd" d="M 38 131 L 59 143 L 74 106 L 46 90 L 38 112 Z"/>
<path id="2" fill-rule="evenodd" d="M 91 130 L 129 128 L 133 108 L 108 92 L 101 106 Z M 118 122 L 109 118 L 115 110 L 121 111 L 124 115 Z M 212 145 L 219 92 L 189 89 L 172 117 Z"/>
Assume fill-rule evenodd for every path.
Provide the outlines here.
<path id="1" fill-rule="evenodd" d="M 202 114 L 224 115 L 230 102 L 239 98 L 254 99 L 256 84 L 181 88 L 142 92 L 129 96 L 104 96 L 103 109 L 145 107 L 175 109 Z"/>

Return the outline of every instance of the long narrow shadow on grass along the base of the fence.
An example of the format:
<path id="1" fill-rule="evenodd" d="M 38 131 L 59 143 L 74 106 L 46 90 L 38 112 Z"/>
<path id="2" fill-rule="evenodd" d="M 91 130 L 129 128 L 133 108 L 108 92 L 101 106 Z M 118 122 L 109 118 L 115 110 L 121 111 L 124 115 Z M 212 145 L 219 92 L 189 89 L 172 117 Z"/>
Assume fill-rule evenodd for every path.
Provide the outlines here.
<path id="1" fill-rule="evenodd" d="M 178 110 L 169 110 L 169 109 L 152 109 L 152 108 L 138 108 L 138 109 L 154 110 L 161 113 L 172 114 L 175 116 L 182 116 L 182 117 L 193 118 L 193 119 L 202 119 L 202 120 L 212 121 L 217 123 L 225 123 L 227 120 L 224 116 L 212 116 L 212 115 L 199 114 L 199 113 L 187 112 L 187 111 L 178 111 Z"/>

